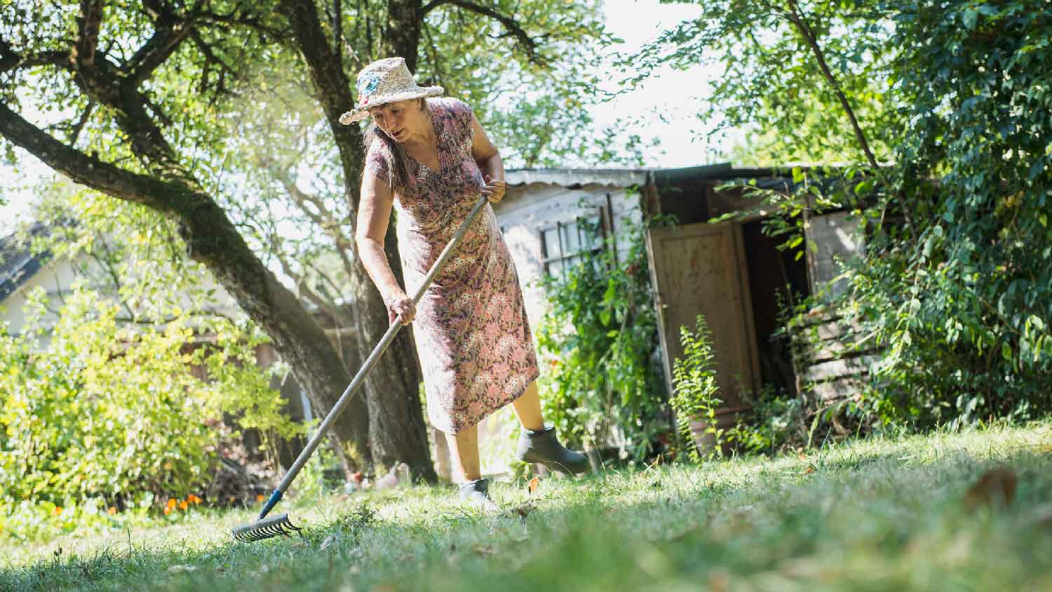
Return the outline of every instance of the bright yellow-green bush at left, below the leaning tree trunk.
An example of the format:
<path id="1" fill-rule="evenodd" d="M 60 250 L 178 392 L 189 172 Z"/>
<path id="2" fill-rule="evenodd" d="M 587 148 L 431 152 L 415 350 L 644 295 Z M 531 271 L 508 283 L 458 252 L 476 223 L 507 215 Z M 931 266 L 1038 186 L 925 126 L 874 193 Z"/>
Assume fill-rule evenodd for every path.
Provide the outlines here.
<path id="1" fill-rule="evenodd" d="M 186 317 L 134 326 L 118 312 L 78 286 L 52 326 L 36 290 L 22 333 L 0 333 L 0 514 L 200 493 L 224 413 L 264 437 L 299 433 L 269 388 L 280 368 L 255 366 L 257 329 L 220 320 L 195 331 Z M 202 333 L 215 342 L 190 346 Z"/>

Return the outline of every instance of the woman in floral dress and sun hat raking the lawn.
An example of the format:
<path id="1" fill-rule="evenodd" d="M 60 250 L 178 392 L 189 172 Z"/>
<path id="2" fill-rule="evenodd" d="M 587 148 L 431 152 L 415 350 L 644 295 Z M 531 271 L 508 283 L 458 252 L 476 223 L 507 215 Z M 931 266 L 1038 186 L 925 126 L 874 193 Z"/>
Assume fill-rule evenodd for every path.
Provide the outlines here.
<path id="1" fill-rule="evenodd" d="M 588 468 L 545 429 L 538 396 L 537 356 L 514 264 L 492 207 L 480 212 L 420 306 L 408 295 L 481 195 L 504 197 L 501 155 L 470 107 L 433 99 L 440 86 L 420 87 L 402 58 L 373 62 L 358 76 L 358 107 L 340 121 L 372 117 L 365 135 L 365 169 L 355 234 L 359 254 L 383 295 L 391 323 L 414 322 L 427 412 L 445 432 L 464 483 L 462 498 L 495 505 L 479 469 L 478 424 L 508 403 L 522 424 L 519 457 L 563 472 Z M 403 290 L 384 254 L 391 207 L 398 211 Z"/>

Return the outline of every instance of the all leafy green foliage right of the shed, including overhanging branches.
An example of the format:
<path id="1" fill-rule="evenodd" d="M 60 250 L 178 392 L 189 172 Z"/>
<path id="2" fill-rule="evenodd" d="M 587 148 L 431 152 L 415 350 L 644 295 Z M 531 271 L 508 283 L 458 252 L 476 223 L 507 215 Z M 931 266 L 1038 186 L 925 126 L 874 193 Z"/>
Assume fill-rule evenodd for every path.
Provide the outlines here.
<path id="1" fill-rule="evenodd" d="M 863 162 L 847 102 L 887 163 L 810 180 L 794 170 L 781 198 L 765 198 L 781 218 L 766 230 L 801 257 L 802 215 L 824 207 L 852 211 L 867 237 L 865 257 L 844 268 L 848 289 L 806 304 L 859 324 L 859 347 L 882 359 L 857 405 L 804 414 L 847 409 L 889 429 L 1052 410 L 1052 7 L 728 0 L 705 9 L 642 57 L 725 63 L 707 115 L 774 142 L 746 152 Z M 801 411 L 764 408 L 766 420 Z M 758 448 L 777 443 L 753 435 Z"/>

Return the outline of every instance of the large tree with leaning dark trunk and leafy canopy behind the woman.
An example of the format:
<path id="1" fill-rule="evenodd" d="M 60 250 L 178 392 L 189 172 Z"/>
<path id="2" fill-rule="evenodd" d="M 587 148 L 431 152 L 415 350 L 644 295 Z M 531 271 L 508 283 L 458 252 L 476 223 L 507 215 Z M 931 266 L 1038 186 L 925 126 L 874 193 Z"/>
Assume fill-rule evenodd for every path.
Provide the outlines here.
<path id="1" fill-rule="evenodd" d="M 252 221 L 230 204 L 251 197 L 227 195 L 221 183 L 226 148 L 234 144 L 237 94 L 252 68 L 270 60 L 288 63 L 288 52 L 302 62 L 335 145 L 344 211 L 352 216 L 361 129 L 337 123 L 353 104 L 347 68 L 392 54 L 405 56 L 413 67 L 421 40 L 427 39 L 432 69 L 423 68 L 423 76 L 448 76 L 450 64 L 483 54 L 487 37 L 509 36 L 513 44 L 491 53 L 526 80 L 535 80 L 551 76 L 561 56 L 596 29 L 588 28 L 590 5 L 553 0 L 521 5 L 389 0 L 357 7 L 335 0 L 323 6 L 324 18 L 319 6 L 312 0 L 251 5 L 143 0 L 118 9 L 82 0 L 74 18 L 68 4 L 5 2 L 0 5 L 0 135 L 78 183 L 167 217 L 189 256 L 266 330 L 311 402 L 325 412 L 349 374 L 303 303 L 256 254 L 246 241 L 251 236 L 240 231 Z M 450 21 L 468 26 L 458 32 Z M 492 73 L 486 74 L 448 80 L 451 87 L 460 81 L 470 89 L 465 93 L 470 98 L 493 80 Z M 23 105 L 41 111 L 29 117 L 36 123 L 18 113 Z M 303 211 L 320 213 L 306 196 L 297 201 L 299 187 L 287 182 L 287 175 L 275 179 L 284 179 Z M 336 250 L 349 263 L 344 297 L 353 303 L 356 341 L 364 358 L 386 330 L 386 315 L 353 258 L 352 243 L 333 238 Z M 393 237 L 386 247 L 399 269 Z M 369 460 L 371 452 L 375 462 L 405 461 L 417 474 L 433 474 L 418 382 L 409 336 L 403 333 L 367 381 L 364 401 L 352 402 L 338 424 L 338 435 L 356 461 Z"/>

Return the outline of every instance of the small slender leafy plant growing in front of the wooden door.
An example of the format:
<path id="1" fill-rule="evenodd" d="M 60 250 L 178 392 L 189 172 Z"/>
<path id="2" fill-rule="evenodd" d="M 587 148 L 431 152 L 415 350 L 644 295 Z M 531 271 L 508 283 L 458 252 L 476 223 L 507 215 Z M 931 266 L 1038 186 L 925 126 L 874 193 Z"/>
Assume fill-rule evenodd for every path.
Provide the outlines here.
<path id="1" fill-rule="evenodd" d="M 700 429 L 706 440 L 711 440 L 713 451 L 720 450 L 723 441 L 723 430 L 716 427 L 716 409 L 723 401 L 716 384 L 712 332 L 704 317 L 697 315 L 693 330 L 680 327 L 680 345 L 683 346 L 683 358 L 672 361 L 672 396 L 669 404 L 675 412 L 680 438 L 690 450 L 690 460 L 697 463 L 702 461 L 702 454 L 694 442 L 695 429 Z"/>

